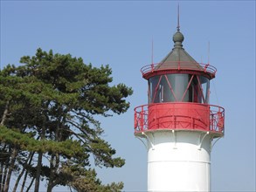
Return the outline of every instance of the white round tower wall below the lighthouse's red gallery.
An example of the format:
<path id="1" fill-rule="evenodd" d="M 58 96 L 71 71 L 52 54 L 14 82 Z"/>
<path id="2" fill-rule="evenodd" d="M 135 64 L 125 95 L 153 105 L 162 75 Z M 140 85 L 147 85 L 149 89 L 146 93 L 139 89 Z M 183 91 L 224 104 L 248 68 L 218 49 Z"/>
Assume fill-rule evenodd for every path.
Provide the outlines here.
<path id="1" fill-rule="evenodd" d="M 211 135 L 204 132 L 146 132 L 148 191 L 210 191 Z"/>

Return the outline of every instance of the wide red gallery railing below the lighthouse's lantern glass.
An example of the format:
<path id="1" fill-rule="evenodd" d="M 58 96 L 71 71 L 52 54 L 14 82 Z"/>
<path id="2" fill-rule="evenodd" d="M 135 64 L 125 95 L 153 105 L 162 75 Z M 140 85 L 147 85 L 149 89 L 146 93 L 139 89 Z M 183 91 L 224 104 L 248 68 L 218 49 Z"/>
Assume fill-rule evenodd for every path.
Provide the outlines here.
<path id="1" fill-rule="evenodd" d="M 188 129 L 224 134 L 225 110 L 197 103 L 159 103 L 135 107 L 135 133 L 156 129 Z"/>

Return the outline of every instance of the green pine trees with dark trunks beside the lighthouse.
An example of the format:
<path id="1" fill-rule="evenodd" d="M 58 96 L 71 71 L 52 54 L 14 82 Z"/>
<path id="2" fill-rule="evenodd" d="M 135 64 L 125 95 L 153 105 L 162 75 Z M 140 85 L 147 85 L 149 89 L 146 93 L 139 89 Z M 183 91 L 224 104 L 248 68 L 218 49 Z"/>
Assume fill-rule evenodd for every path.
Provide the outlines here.
<path id="1" fill-rule="evenodd" d="M 49 192 L 58 185 L 120 191 L 122 182 L 103 185 L 91 168 L 92 163 L 107 168 L 125 163 L 101 138 L 104 131 L 95 117 L 125 113 L 132 89 L 110 86 L 109 65 L 93 67 L 70 54 L 38 49 L 20 63 L 0 71 L 0 191 L 9 190 L 13 175 L 13 191 L 18 185 L 20 191 L 38 191 L 41 180 Z"/>

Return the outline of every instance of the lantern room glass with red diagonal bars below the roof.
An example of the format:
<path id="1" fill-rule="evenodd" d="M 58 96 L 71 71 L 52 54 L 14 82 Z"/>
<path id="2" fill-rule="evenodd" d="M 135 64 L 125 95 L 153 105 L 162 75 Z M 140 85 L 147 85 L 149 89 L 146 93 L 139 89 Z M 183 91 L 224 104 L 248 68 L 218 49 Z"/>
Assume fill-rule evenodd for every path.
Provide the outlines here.
<path id="1" fill-rule="evenodd" d="M 149 104 L 208 103 L 209 79 L 190 74 L 164 74 L 149 79 Z"/>

